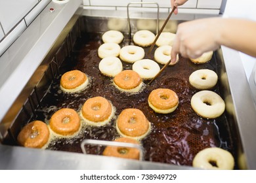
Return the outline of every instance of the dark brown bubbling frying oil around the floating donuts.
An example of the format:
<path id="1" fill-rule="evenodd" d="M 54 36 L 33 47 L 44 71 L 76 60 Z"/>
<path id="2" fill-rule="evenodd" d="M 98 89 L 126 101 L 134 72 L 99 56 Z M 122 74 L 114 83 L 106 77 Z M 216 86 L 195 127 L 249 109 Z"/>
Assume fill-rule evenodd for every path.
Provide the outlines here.
<path id="1" fill-rule="evenodd" d="M 62 75 L 66 71 L 78 69 L 89 76 L 89 86 L 81 93 L 64 93 L 59 88 L 61 75 L 58 76 L 51 84 L 33 120 L 43 120 L 48 124 L 53 113 L 65 107 L 80 112 L 83 103 L 96 96 L 105 97 L 112 102 L 116 107 L 116 117 L 110 124 L 102 127 L 83 125 L 76 137 L 56 138 L 49 145 L 49 149 L 81 153 L 80 144 L 83 139 L 113 141 L 119 137 L 116 131 L 116 118 L 120 112 L 125 108 L 139 108 L 152 124 L 151 133 L 141 141 L 145 161 L 192 165 L 194 156 L 204 148 L 217 146 L 232 152 L 232 141 L 224 114 L 216 119 L 205 119 L 198 116 L 190 105 L 192 95 L 199 91 L 190 86 L 188 77 L 198 69 L 211 69 L 217 72 L 215 56 L 209 63 L 202 65 L 196 65 L 189 59 L 180 57 L 179 63 L 167 67 L 150 86 L 146 85 L 149 81 L 144 81 L 142 92 L 127 95 L 119 92 L 113 86 L 112 78 L 102 75 L 98 69 L 101 59 L 98 58 L 97 51 L 102 43 L 101 35 L 87 33 L 76 42 L 72 56 L 66 58 L 60 73 Z M 130 43 L 133 44 L 131 41 Z M 128 44 L 129 41 L 124 40 L 120 46 Z M 150 55 L 148 49 L 144 48 L 145 58 L 154 59 L 156 46 Z M 132 68 L 131 63 L 122 63 L 124 70 Z M 179 106 L 171 114 L 157 114 L 148 106 L 148 95 L 156 88 L 169 88 L 179 96 Z M 219 86 L 212 90 L 219 93 Z M 89 154 L 100 155 L 104 146 L 88 145 L 86 150 Z"/>

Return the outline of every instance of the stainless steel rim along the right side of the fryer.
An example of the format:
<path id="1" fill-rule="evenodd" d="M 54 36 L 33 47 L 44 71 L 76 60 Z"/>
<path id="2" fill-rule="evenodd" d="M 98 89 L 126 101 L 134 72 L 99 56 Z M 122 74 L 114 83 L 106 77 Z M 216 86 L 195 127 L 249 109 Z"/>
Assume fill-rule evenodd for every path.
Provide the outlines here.
<path id="1" fill-rule="evenodd" d="M 241 169 L 256 169 L 256 108 L 251 95 L 251 90 L 247 82 L 244 67 L 239 53 L 225 46 L 221 46 L 224 58 L 226 73 L 224 78 L 228 78 L 230 93 L 226 90 L 226 108 L 230 114 L 234 115 L 238 133 L 244 152 L 238 152 L 238 159 Z M 232 99 L 229 99 L 231 95 Z M 231 102 L 232 100 L 232 102 Z M 239 141 L 239 140 L 238 140 Z M 239 143 L 239 142 L 238 142 Z"/>

